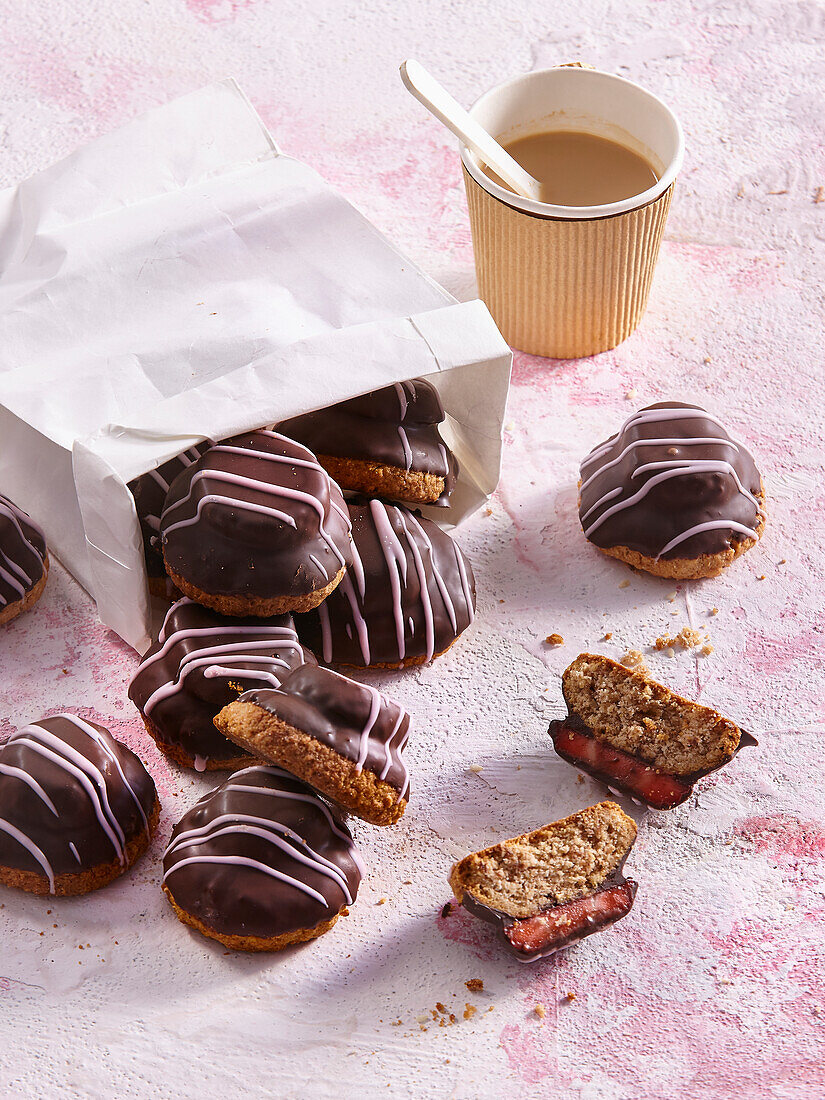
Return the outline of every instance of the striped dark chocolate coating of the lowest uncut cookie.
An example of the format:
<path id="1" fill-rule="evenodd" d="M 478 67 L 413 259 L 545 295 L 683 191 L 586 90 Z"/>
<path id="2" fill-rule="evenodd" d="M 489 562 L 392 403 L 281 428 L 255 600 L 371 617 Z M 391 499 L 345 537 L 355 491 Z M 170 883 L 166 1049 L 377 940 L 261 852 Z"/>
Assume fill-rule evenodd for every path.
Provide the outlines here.
<path id="1" fill-rule="evenodd" d="M 180 909 L 222 935 L 262 938 L 330 920 L 364 870 L 338 814 L 272 767 L 237 771 L 193 806 L 163 866 Z"/>

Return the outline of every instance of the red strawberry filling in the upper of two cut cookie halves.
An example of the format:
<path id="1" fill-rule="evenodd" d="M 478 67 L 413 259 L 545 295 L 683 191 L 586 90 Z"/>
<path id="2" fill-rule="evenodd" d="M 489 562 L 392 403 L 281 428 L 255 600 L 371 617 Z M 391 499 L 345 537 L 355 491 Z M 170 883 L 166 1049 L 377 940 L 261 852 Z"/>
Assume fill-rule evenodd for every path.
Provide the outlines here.
<path id="1" fill-rule="evenodd" d="M 560 757 L 654 810 L 672 810 L 690 796 L 693 784 L 657 771 L 638 757 L 600 741 L 591 733 L 564 722 L 550 725 L 550 736 Z"/>

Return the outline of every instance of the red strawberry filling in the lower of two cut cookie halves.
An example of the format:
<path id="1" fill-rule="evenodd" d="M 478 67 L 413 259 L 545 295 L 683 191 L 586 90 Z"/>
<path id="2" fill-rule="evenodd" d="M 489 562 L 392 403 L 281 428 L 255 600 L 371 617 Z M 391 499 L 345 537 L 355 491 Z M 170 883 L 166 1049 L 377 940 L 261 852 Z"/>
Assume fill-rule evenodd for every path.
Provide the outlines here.
<path id="1" fill-rule="evenodd" d="M 504 934 L 519 953 L 548 955 L 620 921 L 630 912 L 635 894 L 636 883 L 628 880 L 515 921 Z"/>

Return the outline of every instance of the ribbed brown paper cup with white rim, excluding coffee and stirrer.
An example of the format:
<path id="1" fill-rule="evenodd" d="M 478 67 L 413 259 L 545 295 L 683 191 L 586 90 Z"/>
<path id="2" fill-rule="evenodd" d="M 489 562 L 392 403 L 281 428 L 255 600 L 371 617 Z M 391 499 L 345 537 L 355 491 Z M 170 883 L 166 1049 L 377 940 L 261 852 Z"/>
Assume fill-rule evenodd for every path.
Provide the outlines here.
<path id="1" fill-rule="evenodd" d="M 470 113 L 509 142 L 587 131 L 645 156 L 658 183 L 620 202 L 563 207 L 496 184 L 462 146 L 479 294 L 509 344 L 574 359 L 622 343 L 645 312 L 684 140 L 656 96 L 622 77 L 560 66 L 491 89 Z"/>

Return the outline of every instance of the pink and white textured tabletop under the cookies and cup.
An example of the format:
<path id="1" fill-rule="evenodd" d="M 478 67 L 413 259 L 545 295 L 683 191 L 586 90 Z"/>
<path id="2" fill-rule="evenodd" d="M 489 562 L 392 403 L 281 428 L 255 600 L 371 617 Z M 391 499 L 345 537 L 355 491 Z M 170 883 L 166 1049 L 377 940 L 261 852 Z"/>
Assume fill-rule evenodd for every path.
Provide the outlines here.
<path id="1" fill-rule="evenodd" d="M 356 825 L 371 875 L 332 934 L 275 958 L 190 936 L 160 892 L 157 857 L 207 784 L 147 743 L 125 695 L 133 654 L 59 566 L 4 629 L 0 734 L 75 708 L 139 749 L 164 801 L 129 881 L 59 905 L 0 898 L 7 1094 L 825 1092 L 824 30 L 821 6 L 790 0 L 33 0 L 7 12 L 0 183 L 233 75 L 285 151 L 460 297 L 473 273 L 459 160 L 403 91 L 405 56 L 468 102 L 514 72 L 580 58 L 662 95 L 688 138 L 640 330 L 594 360 L 516 356 L 503 481 L 490 514 L 459 532 L 479 622 L 432 668 L 375 678 L 416 717 L 415 801 L 395 829 Z M 770 502 L 762 543 L 693 585 L 604 559 L 575 517 L 580 458 L 634 408 L 671 397 L 722 415 Z M 569 660 L 647 650 L 688 624 L 707 627 L 714 652 L 647 654 L 651 670 L 761 744 L 646 820 L 632 913 L 532 967 L 463 912 L 441 919 L 454 858 L 600 796 L 548 748 Z M 550 648 L 554 631 L 564 645 Z M 465 989 L 473 977 L 483 993 Z M 439 1026 L 437 1002 L 454 1024 Z"/>

